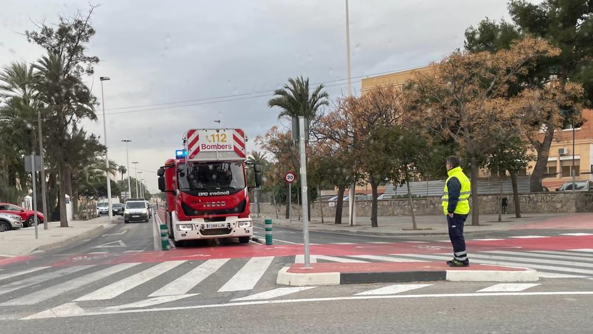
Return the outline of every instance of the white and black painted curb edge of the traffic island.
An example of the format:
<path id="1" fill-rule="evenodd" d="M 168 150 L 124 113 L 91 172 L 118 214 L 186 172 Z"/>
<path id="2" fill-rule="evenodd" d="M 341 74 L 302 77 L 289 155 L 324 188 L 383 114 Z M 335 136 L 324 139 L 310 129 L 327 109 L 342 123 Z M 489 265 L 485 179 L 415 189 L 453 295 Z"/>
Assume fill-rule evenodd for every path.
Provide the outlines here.
<path id="1" fill-rule="evenodd" d="M 339 285 L 355 283 L 389 282 L 432 282 L 432 281 L 468 281 L 468 282 L 535 282 L 539 281 L 533 269 L 521 271 L 504 270 L 433 270 L 408 272 L 327 272 L 327 273 L 290 273 L 290 267 L 283 267 L 278 272 L 276 283 L 292 286 Z"/>

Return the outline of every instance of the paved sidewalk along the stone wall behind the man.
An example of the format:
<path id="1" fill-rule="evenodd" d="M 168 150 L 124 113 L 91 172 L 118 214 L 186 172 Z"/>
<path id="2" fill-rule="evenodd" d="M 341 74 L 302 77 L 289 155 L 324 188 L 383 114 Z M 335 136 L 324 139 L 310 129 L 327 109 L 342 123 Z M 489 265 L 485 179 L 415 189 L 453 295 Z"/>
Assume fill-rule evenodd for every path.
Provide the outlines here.
<path id="1" fill-rule="evenodd" d="M 251 213 L 251 216 L 255 217 L 256 215 Z M 302 229 L 301 220 L 294 219 L 291 222 L 285 218 L 267 215 L 260 215 L 260 218 L 253 219 L 256 223 L 263 223 L 266 218 L 272 218 L 273 226 Z M 342 218 L 341 224 L 334 224 L 333 217 L 324 219 L 325 223 L 321 223 L 321 218 L 312 218 L 309 222 L 310 231 L 385 236 L 448 234 L 444 215 L 416 216 L 417 230 L 412 230 L 412 217 L 410 216 L 378 217 L 379 227 L 377 228 L 371 227 L 370 217 L 356 217 L 355 226 L 348 225 L 347 216 Z M 562 222 L 562 224 L 558 222 Z M 538 225 L 541 225 L 541 228 L 593 228 L 593 213 L 528 213 L 519 219 L 515 218 L 513 214 L 503 215 L 502 222 L 498 222 L 498 215 L 480 215 L 480 226 L 471 226 L 471 216 L 469 216 L 464 226 L 464 232 L 468 234 L 506 229 L 537 229 Z"/>

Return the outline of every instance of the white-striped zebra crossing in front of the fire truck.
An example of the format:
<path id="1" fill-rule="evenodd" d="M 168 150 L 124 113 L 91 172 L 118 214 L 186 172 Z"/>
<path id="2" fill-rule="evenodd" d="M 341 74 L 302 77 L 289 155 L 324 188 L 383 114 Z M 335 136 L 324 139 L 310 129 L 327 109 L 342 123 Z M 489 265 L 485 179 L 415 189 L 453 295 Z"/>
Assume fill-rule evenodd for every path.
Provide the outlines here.
<path id="1" fill-rule="evenodd" d="M 289 260 L 266 256 L 31 267 L 0 275 L 0 307 L 36 305 L 62 295 L 72 296 L 75 302 L 117 300 L 124 294 L 136 291 L 138 295 L 142 293 L 138 291 L 148 288 L 152 291 L 139 297 L 160 303 L 201 292 L 249 291 L 266 275 L 273 276 L 275 282 L 278 270 Z M 200 286 L 205 281 L 208 286 Z"/>

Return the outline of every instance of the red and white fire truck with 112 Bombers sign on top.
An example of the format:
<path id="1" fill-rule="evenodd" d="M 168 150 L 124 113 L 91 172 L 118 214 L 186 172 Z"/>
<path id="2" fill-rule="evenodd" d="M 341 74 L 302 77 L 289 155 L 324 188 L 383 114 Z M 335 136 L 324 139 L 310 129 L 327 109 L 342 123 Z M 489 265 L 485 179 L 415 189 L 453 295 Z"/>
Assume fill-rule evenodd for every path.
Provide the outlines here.
<path id="1" fill-rule="evenodd" d="M 246 137 L 241 129 L 191 129 L 183 149 L 158 169 L 159 190 L 166 193 L 165 220 L 177 246 L 187 240 L 253 235 L 247 167 L 255 187 L 262 184 L 261 166 L 246 162 Z"/>

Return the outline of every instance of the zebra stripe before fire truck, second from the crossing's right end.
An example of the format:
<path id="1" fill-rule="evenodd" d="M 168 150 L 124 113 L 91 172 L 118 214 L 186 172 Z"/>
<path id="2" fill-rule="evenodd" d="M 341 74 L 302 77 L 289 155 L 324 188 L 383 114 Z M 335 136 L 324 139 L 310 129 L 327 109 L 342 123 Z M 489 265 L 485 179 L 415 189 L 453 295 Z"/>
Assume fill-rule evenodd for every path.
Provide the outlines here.
<path id="1" fill-rule="evenodd" d="M 198 285 L 216 270 L 220 269 L 223 264 L 227 263 L 229 259 L 212 259 L 205 261 L 180 278 L 171 281 L 167 285 L 158 289 L 148 297 L 167 296 L 167 295 L 183 295 L 187 294 L 194 286 Z"/>

